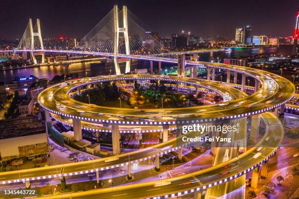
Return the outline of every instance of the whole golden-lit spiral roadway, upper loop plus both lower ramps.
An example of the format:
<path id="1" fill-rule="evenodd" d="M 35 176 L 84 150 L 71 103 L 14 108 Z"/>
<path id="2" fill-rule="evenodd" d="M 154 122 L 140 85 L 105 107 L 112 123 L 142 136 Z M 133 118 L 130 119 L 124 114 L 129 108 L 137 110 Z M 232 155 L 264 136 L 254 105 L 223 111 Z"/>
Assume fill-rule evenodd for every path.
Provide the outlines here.
<path id="1" fill-rule="evenodd" d="M 189 108 L 173 108 L 171 109 L 163 109 L 163 114 L 166 116 L 165 118 L 154 118 L 153 121 L 149 121 L 148 123 L 141 123 L 141 121 L 136 121 L 135 119 L 129 119 L 129 120 L 119 120 L 119 119 L 110 119 L 106 115 L 120 115 L 120 111 L 126 111 L 125 114 L 128 114 L 130 117 L 139 118 L 141 116 L 145 115 L 145 112 L 140 113 L 135 112 L 132 110 L 125 110 L 125 109 L 119 109 L 119 108 L 109 108 L 109 107 L 95 107 L 94 112 L 84 112 L 80 113 L 76 109 L 80 109 L 83 106 L 86 106 L 86 104 L 75 101 L 76 103 L 66 103 L 66 101 L 71 100 L 68 94 L 73 88 L 76 86 L 86 85 L 94 82 L 100 82 L 102 80 L 122 80 L 124 78 L 130 79 L 130 80 L 137 80 L 137 79 L 144 79 L 144 80 L 150 80 L 149 78 L 154 78 L 156 80 L 167 80 L 171 79 L 171 81 L 176 81 L 180 83 L 190 84 L 193 86 L 209 86 L 209 88 L 212 89 L 213 84 L 219 83 L 215 81 L 209 81 L 209 80 L 198 80 L 198 79 L 190 79 L 190 78 L 180 78 L 180 77 L 167 77 L 167 76 L 147 76 L 147 75 L 132 75 L 130 76 L 108 76 L 107 78 L 104 77 L 96 77 L 96 78 L 85 78 L 83 79 L 80 84 L 75 85 L 78 82 L 69 81 L 66 82 L 66 85 L 57 85 L 52 86 L 48 89 L 45 89 L 38 97 L 39 103 L 48 110 L 51 113 L 57 114 L 59 116 L 63 116 L 65 119 L 74 119 L 74 118 L 81 118 L 80 120 L 87 121 L 87 122 L 93 122 L 93 123 L 103 123 L 103 122 L 109 122 L 109 123 L 116 123 L 120 125 L 155 125 L 155 126 L 161 126 L 163 124 L 172 124 L 176 125 L 178 124 L 174 118 L 170 119 L 172 115 L 180 115 L 180 114 L 187 114 L 184 117 L 186 119 L 190 120 L 190 118 L 194 118 L 194 122 L 196 121 L 197 116 L 202 116 L 202 118 L 210 118 L 211 120 L 216 119 L 230 119 L 230 118 L 246 118 L 248 116 L 252 116 L 255 114 L 263 113 L 266 111 L 269 111 L 273 108 L 277 108 L 278 106 L 285 103 L 287 100 L 290 100 L 292 96 L 295 93 L 295 87 L 294 85 L 289 81 L 282 77 L 279 77 L 278 75 L 270 74 L 265 71 L 260 71 L 257 69 L 251 69 L 251 68 L 245 68 L 240 66 L 231 66 L 231 65 L 225 65 L 225 64 L 213 64 L 211 63 L 203 63 L 203 62 L 187 62 L 187 65 L 200 65 L 200 66 L 208 66 L 211 68 L 221 68 L 224 70 L 230 70 L 235 71 L 238 73 L 246 74 L 247 76 L 251 76 L 255 78 L 256 80 L 259 80 L 262 83 L 261 88 L 258 90 L 258 92 L 254 93 L 251 96 L 245 97 L 243 99 L 236 99 L 233 101 L 228 102 L 228 104 L 219 106 L 216 105 L 208 105 L 208 106 L 200 106 L 200 107 L 189 107 Z M 69 83 L 69 84 L 67 84 Z M 272 89 L 275 87 L 275 89 Z M 220 89 L 221 90 L 221 89 Z M 53 91 L 53 96 L 50 96 L 50 92 Z M 225 89 L 223 90 L 223 93 Z M 216 90 L 216 92 L 220 92 Z M 240 91 L 239 91 L 240 92 Z M 261 95 L 259 95 L 261 94 Z M 265 105 L 265 102 L 270 101 L 269 103 L 266 103 L 266 107 L 262 107 Z M 62 102 L 62 103 L 61 103 Z M 67 104 L 64 105 L 65 103 Z M 236 104 L 241 103 L 239 106 L 235 106 Z M 60 110 L 57 108 L 56 103 L 61 103 L 65 106 L 63 110 Z M 71 105 L 70 105 L 71 104 Z M 88 107 L 89 104 L 87 104 Z M 246 108 L 245 106 L 251 105 L 250 108 Z M 70 106 L 70 107 L 69 107 Z M 71 107 L 71 106 L 78 106 L 78 107 Z M 212 109 L 212 108 L 214 109 Z M 57 110 L 58 109 L 58 110 Z M 147 109 L 140 109 L 141 111 L 147 111 Z M 202 111 L 204 110 L 204 111 Z M 111 111 L 112 113 L 109 113 Z M 128 111 L 128 113 L 127 113 Z M 153 112 L 153 109 L 150 109 L 151 112 Z M 161 109 L 157 109 L 157 111 L 161 111 Z M 171 111 L 171 112 L 167 112 Z M 196 112 L 197 111 L 197 112 Z M 198 111 L 200 114 L 198 114 Z M 103 113 L 102 116 L 97 115 L 97 113 Z M 95 114 L 96 113 L 96 114 Z M 121 115 L 125 115 L 123 112 L 121 112 Z M 132 114 L 132 115 L 130 115 Z M 158 115 L 157 113 L 150 113 L 153 117 L 155 115 Z M 195 115 L 198 114 L 198 115 Z M 159 115 L 158 115 L 159 116 Z M 201 171 L 192 172 L 190 174 L 182 175 L 180 177 L 175 177 L 171 179 L 163 179 L 163 183 L 167 183 L 167 181 L 171 181 L 170 184 L 163 186 L 163 189 L 160 190 L 153 190 L 153 185 L 155 183 L 159 183 L 160 180 L 157 181 L 151 181 L 146 183 L 138 183 L 134 185 L 123 185 L 118 187 L 117 190 L 107 189 L 99 189 L 99 190 L 93 190 L 90 192 L 85 193 L 72 193 L 72 194 L 66 194 L 63 196 L 64 198 L 68 197 L 82 197 L 84 198 L 86 195 L 89 194 L 97 194 L 97 196 L 103 196 L 106 198 L 112 198 L 114 195 L 119 195 L 120 197 L 114 198 L 121 198 L 123 195 L 122 193 L 128 193 L 126 197 L 131 198 L 153 198 L 154 196 L 163 196 L 167 195 L 167 197 L 171 197 L 173 193 L 174 196 L 179 196 L 179 194 L 187 194 L 187 193 L 193 193 L 195 190 L 200 189 L 207 189 L 214 185 L 224 183 L 226 181 L 238 178 L 239 176 L 242 176 L 246 174 L 248 171 L 254 169 L 255 167 L 259 166 L 263 161 L 269 159 L 270 156 L 272 156 L 275 151 L 277 150 L 276 147 L 263 147 L 267 144 L 273 144 L 273 146 L 278 146 L 283 138 L 283 129 L 281 123 L 276 119 L 275 116 L 271 113 L 263 113 L 262 114 L 263 119 L 267 118 L 273 118 L 270 121 L 266 122 L 267 131 L 263 137 L 254 147 L 249 149 L 247 152 L 240 155 L 238 158 L 231 159 L 229 161 L 223 162 L 221 164 L 218 164 L 216 166 L 210 167 L 208 169 L 203 169 Z M 97 121 L 95 120 L 97 119 Z M 200 120 L 200 118 L 199 118 Z M 119 123 L 120 122 L 120 123 Z M 275 131 L 275 133 L 273 133 Z M 271 133 L 270 133 L 271 132 Z M 178 139 L 178 138 L 177 138 Z M 152 159 L 154 157 L 160 156 L 164 153 L 169 153 L 173 150 L 177 150 L 178 148 L 186 146 L 188 143 L 184 143 L 182 145 L 176 143 L 176 139 L 172 139 L 166 142 L 163 142 L 161 144 L 157 144 L 153 147 L 148 147 L 145 149 L 141 149 L 139 151 L 130 152 L 128 154 L 121 154 L 118 156 L 115 156 L 117 160 L 111 161 L 111 162 L 105 162 L 109 158 L 104 159 L 95 159 L 87 162 L 78 162 L 78 163 L 70 163 L 70 164 L 64 164 L 64 165 L 55 165 L 55 166 L 49 166 L 46 168 L 38 168 L 38 169 L 28 169 L 28 170 L 20 170 L 19 172 L 4 172 L 6 181 L 8 183 L 16 182 L 19 179 L 19 176 L 28 176 L 30 174 L 32 178 L 30 179 L 21 179 L 23 181 L 26 180 L 34 180 L 34 179 L 47 179 L 47 178 L 57 178 L 62 175 L 64 176 L 72 176 L 72 175 L 78 175 L 79 173 L 90 173 L 95 171 L 101 171 L 104 169 L 111 169 L 115 167 L 119 167 L 123 164 L 128 164 L 128 155 L 134 155 L 131 156 L 130 163 L 138 163 L 140 161 L 144 161 L 146 159 Z M 167 146 L 172 145 L 172 148 L 169 148 Z M 252 160 L 252 156 L 256 154 L 258 151 L 256 150 L 257 147 L 264 148 L 264 156 L 259 156 L 254 161 Z M 223 176 L 215 177 L 215 178 L 207 178 L 208 176 L 211 176 L 212 173 L 219 173 L 223 170 L 223 166 L 225 164 L 229 163 L 236 163 L 238 164 L 238 171 L 234 171 L 229 174 L 225 174 Z M 78 165 L 84 165 L 85 171 L 81 171 L 78 167 Z M 82 168 L 82 167 L 81 167 Z M 46 175 L 55 171 L 63 171 L 62 174 L 58 175 Z M 0 173 L 0 177 L 4 175 Z M 191 183 L 185 186 L 182 186 L 181 184 L 184 181 L 191 180 L 194 178 L 200 178 L 205 179 L 202 181 L 202 184 L 198 183 Z M 4 183 L 7 183 L 4 181 Z M 3 183 L 3 181 L 2 181 Z M 162 183 L 162 182 L 161 182 Z M 129 191 L 128 191 L 129 190 Z M 84 195 L 83 195 L 84 194 Z M 59 196 L 61 197 L 61 196 Z M 166 198 L 166 197 L 165 197 Z"/>

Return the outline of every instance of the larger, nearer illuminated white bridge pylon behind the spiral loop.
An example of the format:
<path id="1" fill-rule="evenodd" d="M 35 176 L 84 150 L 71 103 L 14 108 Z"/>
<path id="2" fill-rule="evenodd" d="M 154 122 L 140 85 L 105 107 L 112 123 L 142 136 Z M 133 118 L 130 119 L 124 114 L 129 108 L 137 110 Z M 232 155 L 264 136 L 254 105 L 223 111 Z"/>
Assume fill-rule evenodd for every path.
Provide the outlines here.
<path id="1" fill-rule="evenodd" d="M 118 47 L 119 47 L 119 33 L 124 33 L 125 46 L 126 46 L 126 55 L 130 54 L 129 40 L 128 40 L 128 13 L 127 6 L 123 6 L 123 27 L 119 27 L 118 21 L 118 6 L 114 5 L 113 7 L 113 16 L 114 16 L 114 66 L 116 75 L 120 75 L 120 62 L 126 62 L 126 72 L 130 72 L 130 59 L 122 58 L 118 59 Z"/>

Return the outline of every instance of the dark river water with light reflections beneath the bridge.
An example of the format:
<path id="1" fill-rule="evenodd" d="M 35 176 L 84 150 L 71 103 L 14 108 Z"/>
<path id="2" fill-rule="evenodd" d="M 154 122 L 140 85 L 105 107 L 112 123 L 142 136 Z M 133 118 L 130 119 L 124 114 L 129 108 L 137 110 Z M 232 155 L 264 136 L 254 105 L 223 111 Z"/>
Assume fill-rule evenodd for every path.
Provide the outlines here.
<path id="1" fill-rule="evenodd" d="M 234 51 L 220 51 L 220 52 L 209 52 L 209 53 L 201 53 L 199 54 L 199 60 L 201 61 L 217 61 L 217 57 L 223 60 L 224 58 L 240 58 L 240 57 L 248 57 L 254 56 L 258 54 L 275 54 L 277 53 L 278 48 L 271 47 L 265 49 L 259 48 L 249 48 L 249 49 L 241 49 Z M 164 66 L 171 66 L 171 64 L 162 63 L 162 68 Z M 157 67 L 157 63 L 154 63 L 154 67 Z M 139 61 L 138 63 L 132 63 L 131 70 L 135 68 L 149 68 L 148 61 Z M 88 76 L 97 76 L 97 75 L 108 75 L 110 73 L 114 74 L 114 64 L 107 63 L 106 65 L 98 64 L 97 62 L 83 62 L 83 63 L 72 63 L 68 66 L 60 65 L 60 66 L 42 66 L 36 68 L 26 68 L 26 69 L 18 69 L 18 70 L 6 70 L 0 71 L 0 81 L 9 82 L 14 80 L 15 77 L 28 77 L 30 75 L 34 75 L 40 79 L 47 78 L 51 80 L 55 75 L 63 75 L 63 74 L 73 74 L 78 73 L 79 77 L 84 77 L 85 72 L 87 72 Z M 125 70 L 125 66 L 121 66 L 121 72 Z"/>

